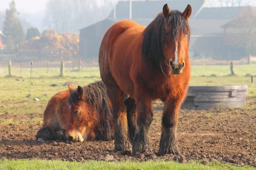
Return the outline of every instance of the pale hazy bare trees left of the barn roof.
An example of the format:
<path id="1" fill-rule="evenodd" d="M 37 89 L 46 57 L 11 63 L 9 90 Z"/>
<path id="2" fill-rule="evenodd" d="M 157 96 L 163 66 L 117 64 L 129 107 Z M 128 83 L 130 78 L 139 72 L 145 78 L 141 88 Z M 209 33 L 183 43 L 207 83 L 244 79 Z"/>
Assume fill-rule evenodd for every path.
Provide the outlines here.
<path id="1" fill-rule="evenodd" d="M 45 24 L 57 33 L 78 32 L 106 18 L 116 0 L 50 0 L 47 4 Z"/>

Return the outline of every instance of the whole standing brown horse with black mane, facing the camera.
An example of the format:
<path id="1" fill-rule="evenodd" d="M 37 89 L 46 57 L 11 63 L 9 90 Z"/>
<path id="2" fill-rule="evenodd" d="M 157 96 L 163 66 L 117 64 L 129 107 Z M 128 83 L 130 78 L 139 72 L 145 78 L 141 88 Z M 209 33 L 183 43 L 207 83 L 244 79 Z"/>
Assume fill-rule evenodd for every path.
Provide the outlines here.
<path id="1" fill-rule="evenodd" d="M 113 105 L 115 150 L 152 153 L 152 101 L 164 102 L 158 154 L 178 153 L 178 112 L 190 78 L 188 57 L 191 7 L 170 11 L 167 4 L 147 27 L 134 21 L 115 23 L 99 50 L 102 81 Z M 186 66 L 185 66 L 186 64 Z M 125 98 L 134 99 L 135 130 L 131 145 Z M 127 109 L 129 110 L 129 109 Z M 131 128 L 130 128 L 131 129 Z M 133 135 L 131 135 L 133 136 Z"/>

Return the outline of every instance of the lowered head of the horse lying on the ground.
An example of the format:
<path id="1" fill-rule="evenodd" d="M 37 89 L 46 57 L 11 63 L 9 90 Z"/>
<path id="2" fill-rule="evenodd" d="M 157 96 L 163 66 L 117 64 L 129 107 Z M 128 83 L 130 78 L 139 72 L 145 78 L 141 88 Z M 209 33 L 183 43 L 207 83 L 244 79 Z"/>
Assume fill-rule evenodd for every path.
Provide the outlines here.
<path id="1" fill-rule="evenodd" d="M 93 112 L 93 107 L 84 100 L 85 94 L 81 86 L 78 86 L 77 89 L 71 87 L 69 87 L 69 89 L 70 110 L 66 137 L 69 141 L 82 142 L 87 138 L 85 132 L 90 126 L 89 119 L 92 118 L 90 113 Z"/>

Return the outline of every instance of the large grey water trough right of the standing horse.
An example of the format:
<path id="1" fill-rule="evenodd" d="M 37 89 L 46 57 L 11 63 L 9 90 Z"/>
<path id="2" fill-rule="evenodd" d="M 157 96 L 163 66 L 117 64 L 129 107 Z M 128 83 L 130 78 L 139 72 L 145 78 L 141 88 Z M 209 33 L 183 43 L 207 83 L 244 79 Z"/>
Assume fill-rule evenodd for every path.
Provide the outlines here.
<path id="1" fill-rule="evenodd" d="M 183 109 L 245 106 L 247 85 L 189 86 Z"/>

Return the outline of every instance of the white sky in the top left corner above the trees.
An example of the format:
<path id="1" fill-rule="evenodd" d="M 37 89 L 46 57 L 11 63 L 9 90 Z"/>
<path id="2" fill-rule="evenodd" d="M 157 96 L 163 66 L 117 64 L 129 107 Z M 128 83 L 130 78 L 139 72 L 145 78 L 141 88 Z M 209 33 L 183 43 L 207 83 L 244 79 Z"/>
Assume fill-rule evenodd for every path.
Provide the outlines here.
<path id="1" fill-rule="evenodd" d="M 86 0 L 85 0 L 86 1 Z M 9 9 L 11 0 L 0 1 L 0 11 Z M 14 0 L 18 12 L 37 13 L 46 9 L 48 0 Z"/>

